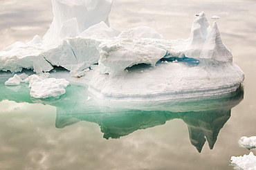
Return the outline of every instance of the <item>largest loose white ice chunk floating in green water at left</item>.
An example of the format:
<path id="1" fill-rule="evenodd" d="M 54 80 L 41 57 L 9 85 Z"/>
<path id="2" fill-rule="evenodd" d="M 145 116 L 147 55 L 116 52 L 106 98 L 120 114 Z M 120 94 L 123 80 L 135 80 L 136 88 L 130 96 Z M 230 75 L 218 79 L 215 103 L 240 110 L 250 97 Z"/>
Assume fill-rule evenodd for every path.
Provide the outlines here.
<path id="1" fill-rule="evenodd" d="M 30 95 L 35 98 L 57 97 L 66 93 L 66 79 L 48 78 L 40 82 L 34 82 L 30 89 Z"/>

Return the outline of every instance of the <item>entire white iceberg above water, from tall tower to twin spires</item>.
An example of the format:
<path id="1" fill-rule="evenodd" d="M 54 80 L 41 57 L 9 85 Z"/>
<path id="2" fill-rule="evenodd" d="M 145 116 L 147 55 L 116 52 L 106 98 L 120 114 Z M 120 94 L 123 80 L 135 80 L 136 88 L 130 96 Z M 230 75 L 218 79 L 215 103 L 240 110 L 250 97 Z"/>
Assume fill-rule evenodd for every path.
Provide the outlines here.
<path id="1" fill-rule="evenodd" d="M 89 84 L 94 97 L 112 102 L 220 95 L 244 80 L 217 23 L 209 26 L 204 12 L 192 23 L 190 38 L 166 40 L 146 26 L 122 32 L 109 27 L 111 0 L 52 3 L 53 23 L 44 38 L 1 50 L 0 70 L 27 68 L 40 75 L 61 66 L 70 71 L 69 82 Z"/>

